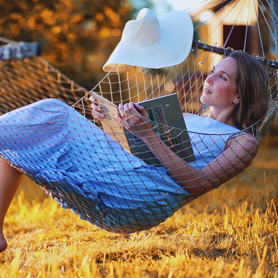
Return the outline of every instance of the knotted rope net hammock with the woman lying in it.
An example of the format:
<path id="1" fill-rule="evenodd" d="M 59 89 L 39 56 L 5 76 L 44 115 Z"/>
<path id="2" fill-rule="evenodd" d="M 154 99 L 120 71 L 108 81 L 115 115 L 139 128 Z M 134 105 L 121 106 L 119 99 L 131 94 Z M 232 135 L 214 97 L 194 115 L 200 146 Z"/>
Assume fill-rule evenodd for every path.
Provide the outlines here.
<path id="1" fill-rule="evenodd" d="M 213 15 L 216 16 L 219 11 L 230 7 L 231 2 L 210 2 L 207 9 L 213 10 L 221 4 L 221 8 L 217 6 L 218 10 L 214 10 Z M 234 2 L 231 10 L 239 3 L 245 1 Z M 271 19 L 274 15 L 274 27 L 278 28 L 277 17 L 271 13 L 271 7 L 266 8 L 261 1 L 256 4 L 257 12 L 265 9 Z M 249 5 L 251 7 L 251 1 Z M 269 26 L 267 20 L 265 22 Z M 200 26 L 202 24 L 195 29 Z M 247 27 L 248 23 L 246 30 Z M 269 31 L 274 38 L 271 28 Z M 230 35 L 231 32 L 228 37 Z M 228 38 L 224 47 L 215 47 L 206 43 L 208 37 L 203 42 L 193 41 L 191 53 L 180 65 L 158 70 L 132 67 L 121 72 L 115 65 L 91 91 L 116 105 L 174 92 L 178 95 L 183 112 L 200 115 L 206 109 L 200 102 L 206 76 L 213 65 L 233 51 L 225 47 Z M 220 165 L 223 171 L 218 176 L 212 175 L 216 181 L 212 187 L 207 188 L 205 183 L 199 183 L 203 190 L 190 194 L 189 187 L 197 181 L 197 178 L 192 178 L 194 172 L 200 171 L 213 159 L 217 161 L 226 141 L 231 137 L 237 141 L 242 131 L 240 133 L 235 128 L 227 128 L 225 134 L 213 132 L 214 129 L 198 133 L 192 130 L 196 118 L 191 116 L 187 131 L 196 158 L 192 165 L 196 170 L 191 171 L 191 179 L 181 186 L 165 168 L 148 165 L 130 155 L 120 145 L 123 142 L 119 143 L 104 133 L 101 123 L 92 116 L 89 100 L 91 91 L 79 86 L 37 56 L 40 52 L 38 44 L 15 43 L 4 38 L 1 41 L 0 113 L 3 116 L 0 118 L 0 156 L 39 184 L 62 208 L 70 208 L 78 214 L 80 219 L 114 233 L 148 230 L 238 174 L 237 165 L 229 170 Z M 243 50 L 246 34 L 244 42 Z M 277 47 L 276 40 L 274 45 Z M 277 109 L 278 64 L 265 57 L 256 58 L 263 63 L 269 76 L 269 94 L 272 99 L 266 115 L 245 130 L 258 138 L 266 120 Z M 165 134 L 173 129 L 166 123 L 152 122 Z M 176 132 L 180 134 L 185 131 Z M 164 137 L 169 141 L 167 134 Z M 206 149 L 205 154 L 200 144 Z M 236 157 L 236 152 L 234 155 Z M 210 174 L 213 174 L 212 169 L 209 173 L 203 173 L 203 177 Z"/>

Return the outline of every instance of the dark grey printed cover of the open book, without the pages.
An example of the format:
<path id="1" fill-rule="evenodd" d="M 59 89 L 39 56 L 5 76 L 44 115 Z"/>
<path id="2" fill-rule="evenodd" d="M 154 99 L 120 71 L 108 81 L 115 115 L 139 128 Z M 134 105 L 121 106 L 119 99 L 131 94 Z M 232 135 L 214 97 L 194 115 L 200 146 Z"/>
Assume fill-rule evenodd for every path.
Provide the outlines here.
<path id="1" fill-rule="evenodd" d="M 183 160 L 195 161 L 177 94 L 145 100 L 138 104 L 144 106 L 148 112 L 157 136 Z M 143 159 L 149 165 L 162 166 L 142 140 L 135 137 L 126 128 L 124 128 L 124 132 L 133 155 Z"/>

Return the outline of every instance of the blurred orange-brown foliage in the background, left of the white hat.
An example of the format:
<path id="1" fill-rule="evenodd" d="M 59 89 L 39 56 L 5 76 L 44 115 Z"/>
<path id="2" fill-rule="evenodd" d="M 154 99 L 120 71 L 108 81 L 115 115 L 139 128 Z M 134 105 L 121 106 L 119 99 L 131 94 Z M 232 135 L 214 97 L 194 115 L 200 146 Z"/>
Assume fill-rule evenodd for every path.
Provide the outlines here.
<path id="1" fill-rule="evenodd" d="M 39 41 L 47 61 L 91 89 L 132 14 L 127 0 L 2 0 L 0 36 Z"/>

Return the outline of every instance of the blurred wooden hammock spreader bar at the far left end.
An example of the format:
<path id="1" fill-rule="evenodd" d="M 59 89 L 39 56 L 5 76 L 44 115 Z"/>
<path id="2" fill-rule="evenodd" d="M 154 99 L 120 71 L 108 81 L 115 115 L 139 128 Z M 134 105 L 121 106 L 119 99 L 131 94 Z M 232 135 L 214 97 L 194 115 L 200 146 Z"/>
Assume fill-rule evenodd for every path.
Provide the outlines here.
<path id="1" fill-rule="evenodd" d="M 0 46 L 0 61 L 40 56 L 41 44 L 32 42 L 8 43 Z"/>

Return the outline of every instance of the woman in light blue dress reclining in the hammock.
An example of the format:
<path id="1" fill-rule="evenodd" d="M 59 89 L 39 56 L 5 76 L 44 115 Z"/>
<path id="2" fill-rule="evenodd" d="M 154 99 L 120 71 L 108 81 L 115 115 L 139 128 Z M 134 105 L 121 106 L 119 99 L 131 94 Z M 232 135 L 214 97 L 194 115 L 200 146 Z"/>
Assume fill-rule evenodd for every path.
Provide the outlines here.
<path id="1" fill-rule="evenodd" d="M 99 228 L 132 233 L 157 226 L 196 194 L 220 186 L 251 164 L 258 142 L 241 130 L 267 112 L 267 89 L 267 74 L 244 52 L 213 67 L 201 96 L 209 106 L 206 116 L 184 115 L 194 163 L 181 160 L 156 136 L 144 107 L 120 104 L 116 119 L 149 146 L 164 166 L 160 168 L 126 152 L 59 100 L 42 100 L 1 116 L 0 252 L 7 247 L 2 227 L 21 172 L 54 194 L 63 208 Z M 103 119 L 102 109 L 91 100 L 93 115 Z M 207 128 L 220 135 L 206 135 Z"/>

